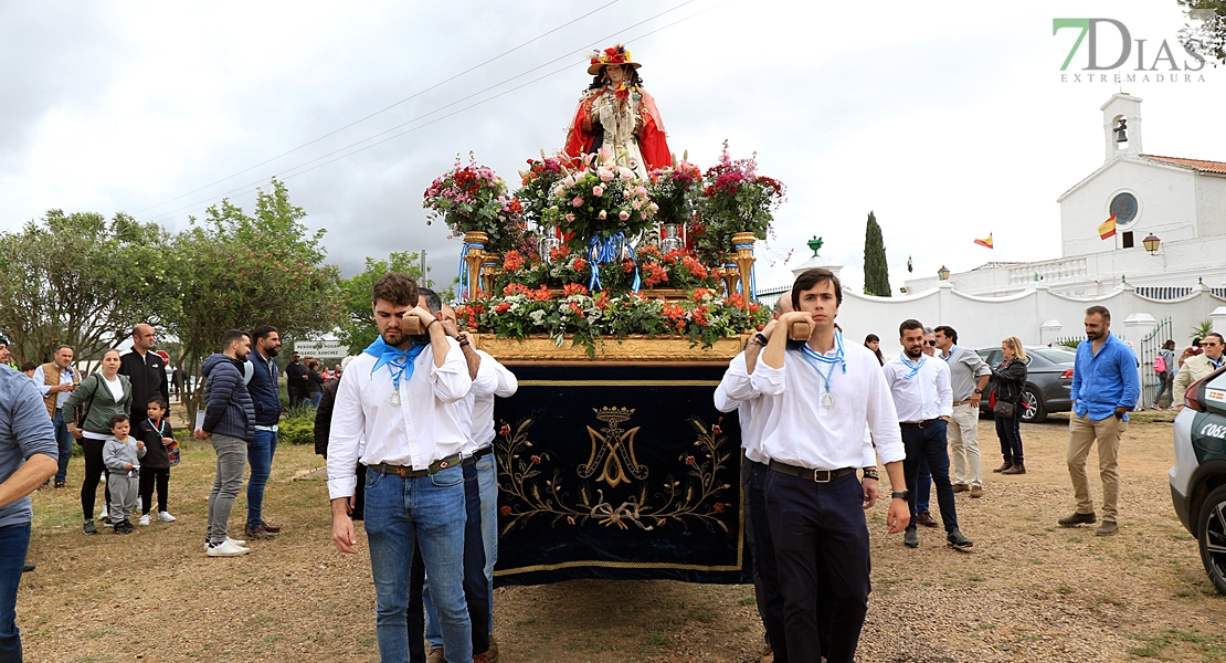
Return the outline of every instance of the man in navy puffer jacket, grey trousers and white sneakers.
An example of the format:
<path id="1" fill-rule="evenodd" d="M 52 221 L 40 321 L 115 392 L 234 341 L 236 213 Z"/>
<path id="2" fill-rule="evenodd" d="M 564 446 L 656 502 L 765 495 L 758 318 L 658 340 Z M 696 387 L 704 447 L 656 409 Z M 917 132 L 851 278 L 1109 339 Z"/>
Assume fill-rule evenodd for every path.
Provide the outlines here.
<path id="1" fill-rule="evenodd" d="M 243 364 L 251 352 L 251 337 L 239 330 L 222 336 L 222 352 L 210 354 L 201 365 L 205 379 L 205 420 L 192 433 L 208 440 L 217 452 L 217 477 L 208 493 L 208 533 L 205 553 L 211 558 L 233 558 L 251 550 L 243 539 L 229 537 L 234 498 L 243 488 L 246 447 L 255 438 L 255 406 L 243 380 Z"/>

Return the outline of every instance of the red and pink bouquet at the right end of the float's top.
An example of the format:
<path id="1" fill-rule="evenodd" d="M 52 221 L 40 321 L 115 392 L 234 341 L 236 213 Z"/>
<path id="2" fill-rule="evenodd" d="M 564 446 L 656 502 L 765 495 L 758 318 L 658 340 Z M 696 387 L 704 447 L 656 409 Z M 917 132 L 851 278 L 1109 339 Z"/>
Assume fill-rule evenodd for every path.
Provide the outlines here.
<path id="1" fill-rule="evenodd" d="M 786 190 L 783 183 L 759 175 L 756 169 L 756 153 L 748 159 L 733 159 L 725 141 L 720 163 L 706 172 L 691 239 L 707 263 L 723 262 L 737 233 L 766 239 L 774 212 L 786 200 Z"/>

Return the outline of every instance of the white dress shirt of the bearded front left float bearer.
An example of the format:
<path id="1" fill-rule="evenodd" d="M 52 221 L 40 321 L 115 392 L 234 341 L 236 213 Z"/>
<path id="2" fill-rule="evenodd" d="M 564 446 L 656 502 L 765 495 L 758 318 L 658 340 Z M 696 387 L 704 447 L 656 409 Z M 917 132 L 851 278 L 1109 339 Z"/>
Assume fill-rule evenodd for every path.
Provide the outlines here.
<path id="1" fill-rule="evenodd" d="M 427 347 L 413 362 L 413 376 L 400 382 L 400 404 L 391 370 L 370 373 L 376 358 L 362 353 L 349 363 L 336 392 L 332 430 L 327 440 L 327 490 L 331 499 L 353 495 L 353 467 L 387 463 L 427 469 L 430 463 L 459 453 L 468 442 L 467 418 L 460 401 L 472 380 L 460 346 L 447 338 L 450 350 L 441 366 Z M 362 440 L 365 449 L 359 451 Z"/>

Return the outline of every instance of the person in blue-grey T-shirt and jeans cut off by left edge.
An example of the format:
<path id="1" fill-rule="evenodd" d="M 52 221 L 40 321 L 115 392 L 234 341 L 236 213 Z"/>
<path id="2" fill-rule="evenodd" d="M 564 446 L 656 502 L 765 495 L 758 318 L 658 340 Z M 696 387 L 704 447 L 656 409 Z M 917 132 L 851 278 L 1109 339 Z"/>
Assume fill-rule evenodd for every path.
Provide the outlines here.
<path id="1" fill-rule="evenodd" d="M 0 365 L 0 661 L 20 662 L 17 586 L 29 550 L 29 494 L 58 467 L 51 419 L 38 385 Z"/>

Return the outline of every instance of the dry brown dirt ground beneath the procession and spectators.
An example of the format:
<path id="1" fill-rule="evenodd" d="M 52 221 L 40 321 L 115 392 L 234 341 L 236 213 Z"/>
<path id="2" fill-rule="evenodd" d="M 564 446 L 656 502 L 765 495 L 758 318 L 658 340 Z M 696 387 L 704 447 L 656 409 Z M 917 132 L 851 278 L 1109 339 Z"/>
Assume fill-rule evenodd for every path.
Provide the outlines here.
<path id="1" fill-rule="evenodd" d="M 971 554 L 924 528 L 921 547 L 906 549 L 885 534 L 878 505 L 859 659 L 1226 661 L 1226 597 L 1171 507 L 1170 415 L 1146 418 L 1157 420 L 1134 422 L 1123 441 L 1116 537 L 1056 525 L 1073 509 L 1064 418 L 1022 425 L 1020 477 L 987 469 L 999 464 L 999 445 L 981 422 L 987 495 L 958 495 Z M 212 450 L 189 442 L 184 457 L 170 479 L 179 521 L 131 536 L 82 536 L 78 490 L 34 495 L 38 569 L 17 604 L 26 661 L 378 661 L 364 544 L 362 555 L 337 553 L 324 483 L 293 480 L 320 467 L 311 450 L 277 450 L 265 513 L 286 531 L 233 559 L 202 551 Z M 69 477 L 80 487 L 78 458 Z M 244 512 L 240 496 L 233 526 Z M 576 581 L 500 588 L 494 605 L 508 663 L 741 663 L 761 650 L 750 586 Z"/>

